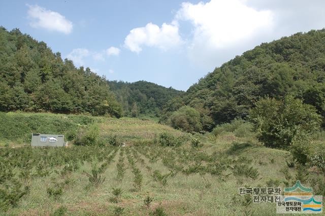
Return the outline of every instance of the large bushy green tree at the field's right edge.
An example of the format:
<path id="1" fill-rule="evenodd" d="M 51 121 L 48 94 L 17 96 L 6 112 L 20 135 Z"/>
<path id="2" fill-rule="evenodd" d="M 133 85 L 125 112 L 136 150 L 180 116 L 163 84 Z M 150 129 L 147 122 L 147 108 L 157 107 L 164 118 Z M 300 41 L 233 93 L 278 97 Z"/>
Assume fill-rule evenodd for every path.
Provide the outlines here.
<path id="1" fill-rule="evenodd" d="M 311 135 L 319 130 L 321 123 L 314 107 L 291 96 L 284 100 L 266 97 L 257 101 L 249 118 L 261 142 L 267 147 L 286 149 L 295 142 L 295 136 Z"/>

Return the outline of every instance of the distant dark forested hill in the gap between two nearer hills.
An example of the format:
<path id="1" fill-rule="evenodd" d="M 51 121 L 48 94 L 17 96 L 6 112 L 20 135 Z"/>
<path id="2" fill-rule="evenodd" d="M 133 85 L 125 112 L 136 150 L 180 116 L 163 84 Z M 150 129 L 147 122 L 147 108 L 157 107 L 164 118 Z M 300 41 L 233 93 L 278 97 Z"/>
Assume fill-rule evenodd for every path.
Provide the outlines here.
<path id="1" fill-rule="evenodd" d="M 123 106 L 124 115 L 133 117 L 139 114 L 159 116 L 170 99 L 184 93 L 172 87 L 166 88 L 146 81 L 108 81 L 108 84 Z"/>

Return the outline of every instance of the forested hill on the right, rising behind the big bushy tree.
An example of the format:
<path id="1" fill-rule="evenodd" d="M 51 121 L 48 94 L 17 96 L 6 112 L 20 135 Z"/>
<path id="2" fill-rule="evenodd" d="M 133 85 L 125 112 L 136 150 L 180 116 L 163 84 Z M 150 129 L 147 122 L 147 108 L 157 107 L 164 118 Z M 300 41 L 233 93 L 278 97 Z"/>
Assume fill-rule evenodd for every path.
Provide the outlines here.
<path id="1" fill-rule="evenodd" d="M 205 129 L 246 117 L 266 95 L 293 95 L 325 116 L 325 29 L 263 43 L 236 56 L 191 86 L 184 102 L 201 114 Z"/>

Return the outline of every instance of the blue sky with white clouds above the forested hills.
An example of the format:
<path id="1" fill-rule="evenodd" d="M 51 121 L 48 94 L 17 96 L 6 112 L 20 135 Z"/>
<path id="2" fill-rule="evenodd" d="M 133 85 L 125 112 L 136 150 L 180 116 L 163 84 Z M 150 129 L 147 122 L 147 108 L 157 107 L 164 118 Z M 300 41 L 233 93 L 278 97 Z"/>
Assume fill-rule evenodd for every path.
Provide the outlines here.
<path id="1" fill-rule="evenodd" d="M 325 27 L 325 1 L 1 1 L 0 20 L 108 80 L 186 90 L 262 42 Z"/>

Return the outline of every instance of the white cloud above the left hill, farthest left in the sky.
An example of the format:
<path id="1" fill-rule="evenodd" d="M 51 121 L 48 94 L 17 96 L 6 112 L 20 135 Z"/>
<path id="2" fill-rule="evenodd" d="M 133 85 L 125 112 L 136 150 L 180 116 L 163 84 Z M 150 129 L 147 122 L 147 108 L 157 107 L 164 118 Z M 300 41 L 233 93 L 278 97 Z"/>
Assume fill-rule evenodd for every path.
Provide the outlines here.
<path id="1" fill-rule="evenodd" d="M 28 6 L 28 18 L 31 19 L 29 23 L 34 28 L 45 28 L 50 31 L 59 31 L 69 34 L 72 31 L 73 24 L 61 14 L 47 10 L 38 5 Z"/>

